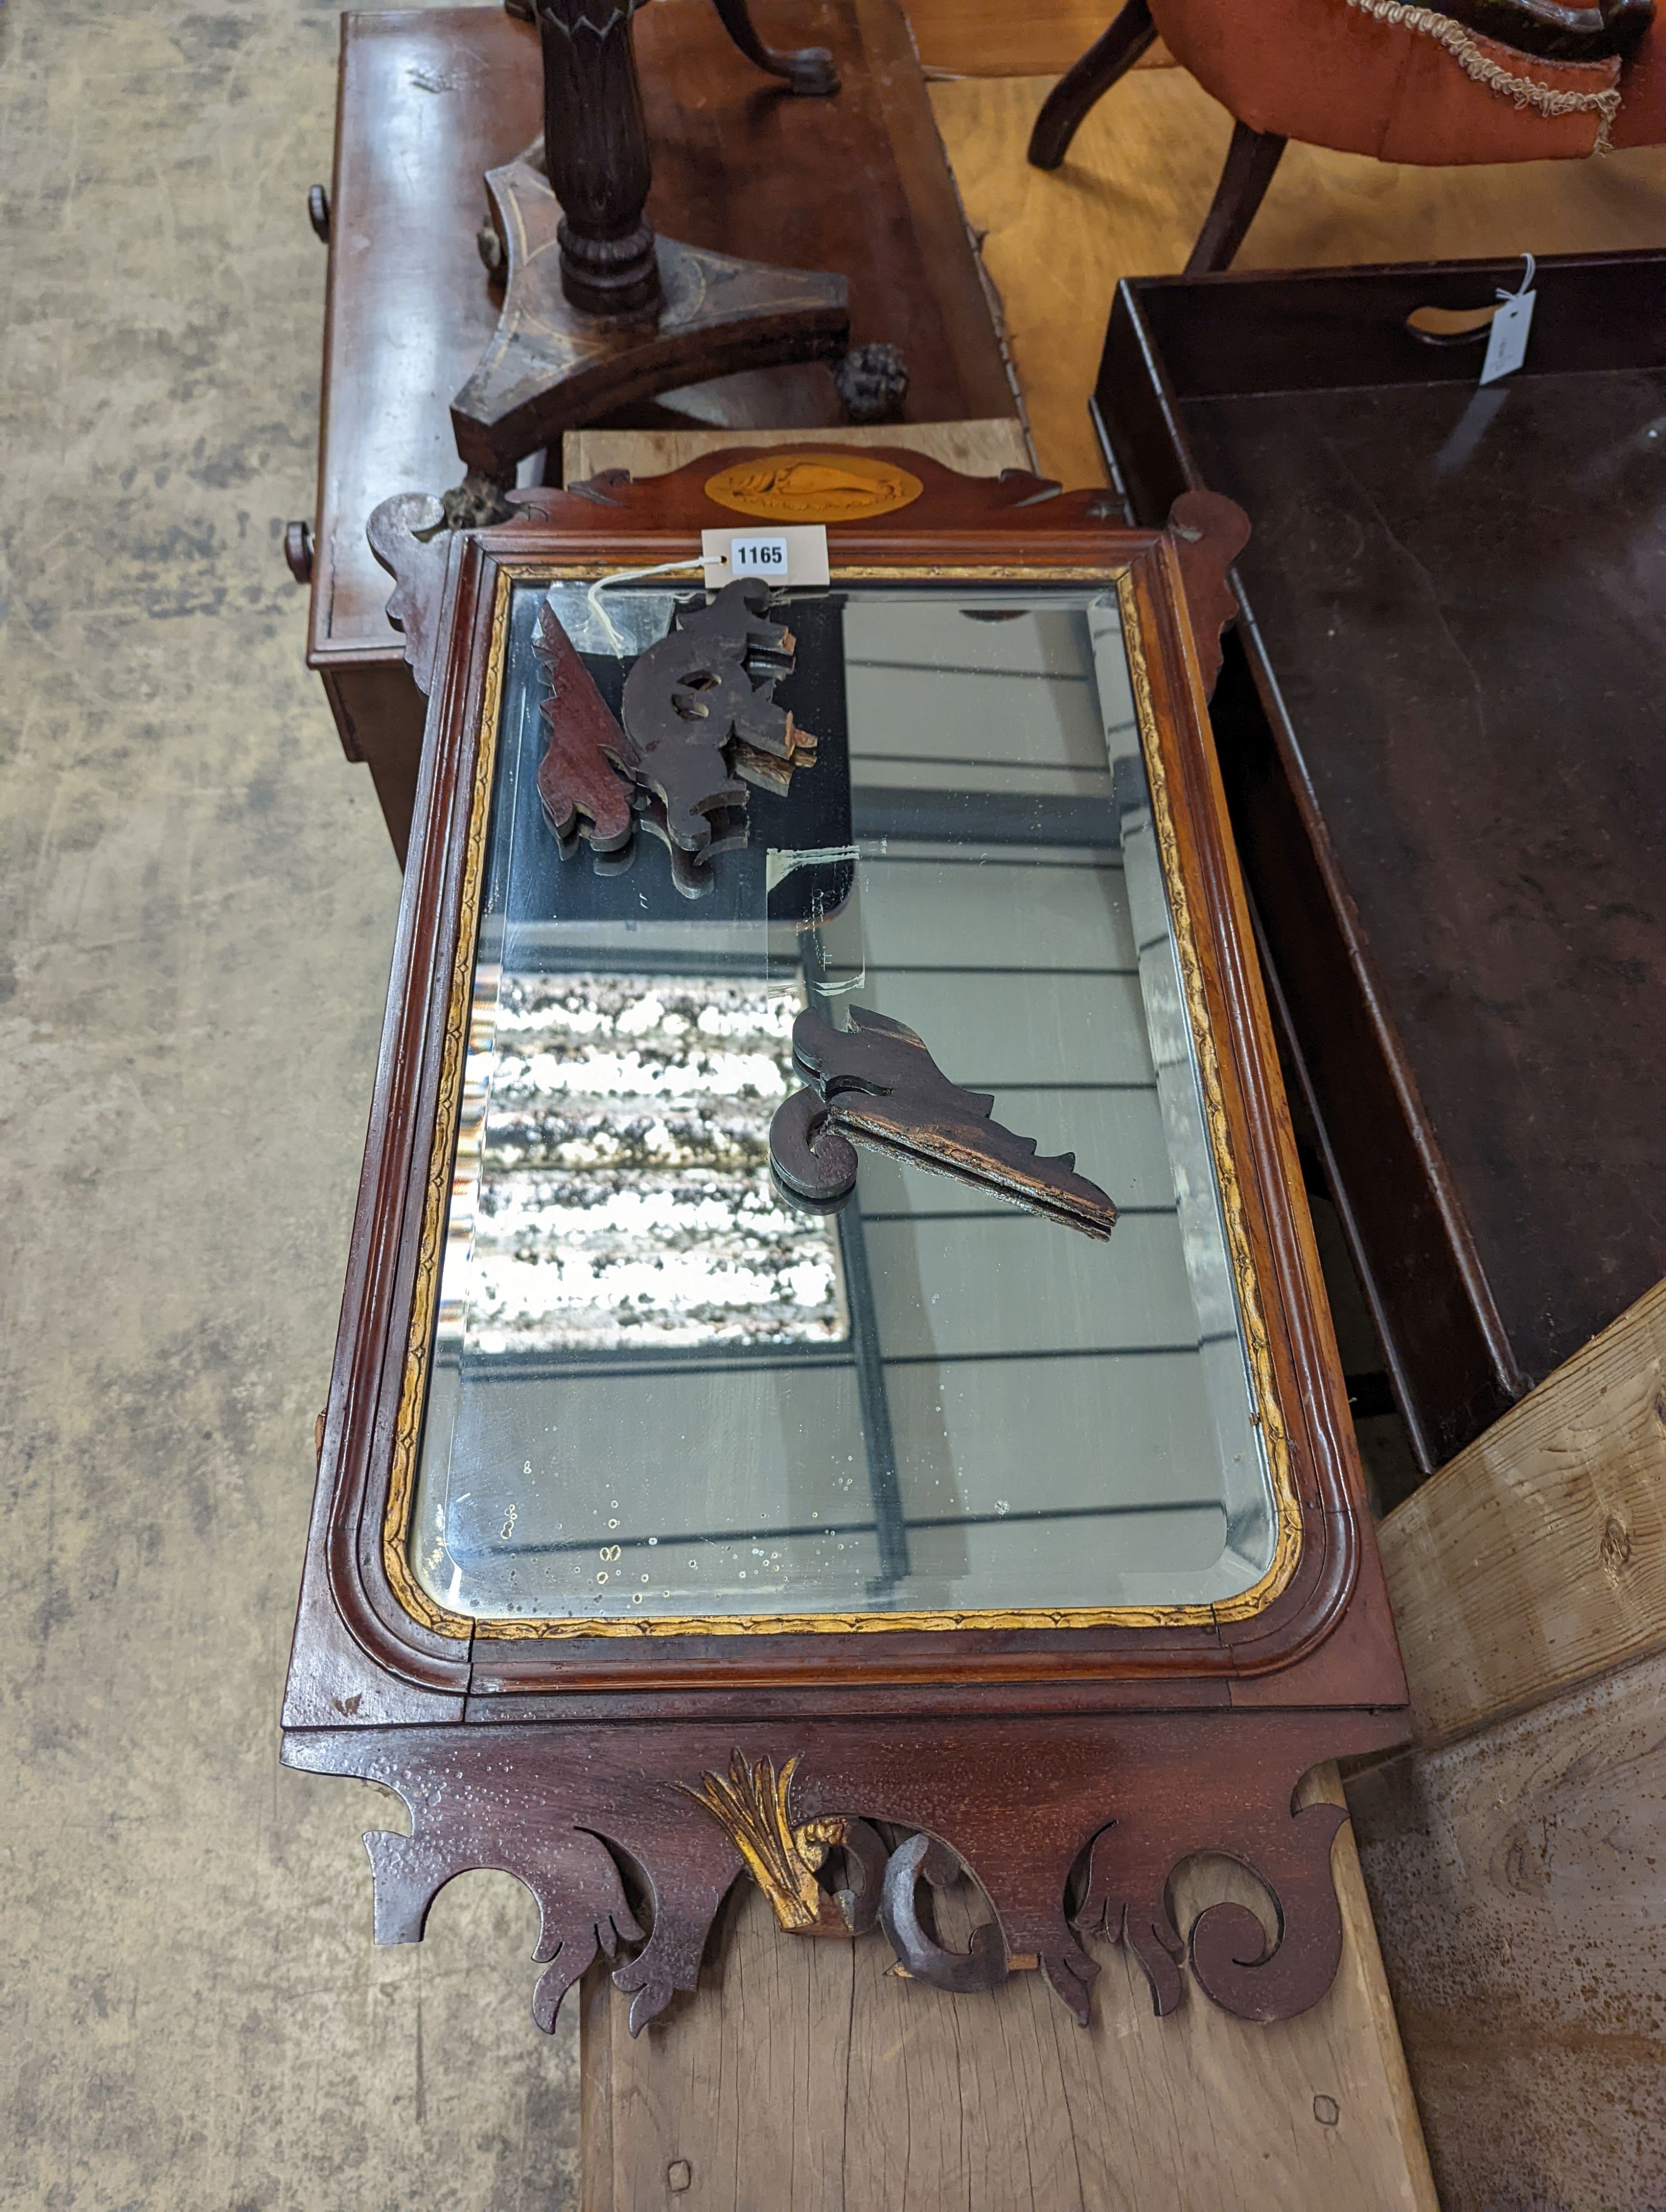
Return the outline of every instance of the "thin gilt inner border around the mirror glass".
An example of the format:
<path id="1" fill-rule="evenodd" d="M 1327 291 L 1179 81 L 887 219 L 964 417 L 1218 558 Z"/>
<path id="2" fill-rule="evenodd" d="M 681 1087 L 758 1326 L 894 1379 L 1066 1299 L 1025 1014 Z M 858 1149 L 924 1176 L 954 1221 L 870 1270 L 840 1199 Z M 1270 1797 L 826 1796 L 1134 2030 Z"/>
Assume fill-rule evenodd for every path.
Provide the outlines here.
<path id="1" fill-rule="evenodd" d="M 1263 1613 L 1290 1584 L 1303 1548 L 1301 1500 L 1297 1493 L 1290 1438 L 1279 1405 L 1272 1352 L 1268 1343 L 1266 1305 L 1254 1252 L 1243 1219 L 1239 1170 L 1232 1157 L 1226 1102 L 1221 1095 L 1219 1051 L 1210 1020 L 1204 971 L 1197 953 L 1190 900 L 1181 874 L 1175 834 L 1168 763 L 1157 723 L 1139 606 L 1128 564 L 1027 566 L 1018 562 L 940 564 L 940 562 L 839 562 L 832 582 L 998 582 L 998 584 L 1097 584 L 1115 588 L 1128 657 L 1128 677 L 1139 728 L 1139 748 L 1150 787 L 1153 825 L 1168 891 L 1175 947 L 1179 953 L 1186 1013 L 1197 1051 L 1197 1073 L 1204 1095 L 1210 1159 L 1219 1181 L 1228 1259 L 1243 1323 L 1243 1352 L 1250 1371 L 1254 1420 L 1261 1429 L 1272 1486 L 1274 1542 L 1266 1573 L 1237 1597 L 1206 1604 L 1170 1606 L 1071 1606 L 1016 1610 L 951 1613 L 752 1613 L 752 1615 L 650 1615 L 642 1619 L 595 1617 L 491 1617 L 454 1613 L 440 1606 L 416 1579 L 409 1559 L 412 1515 L 416 1504 L 416 1469 L 427 1405 L 429 1358 L 434 1347 L 440 1267 L 445 1261 L 445 1223 L 451 1192 L 451 1168 L 462 1102 L 462 1066 L 469 1040 L 473 998 L 473 964 L 478 947 L 480 898 L 485 887 L 491 794 L 498 765 L 498 734 L 509 641 L 509 608 L 518 584 L 586 582 L 608 575 L 608 560 L 502 560 L 493 580 L 491 641 L 480 697 L 480 732 L 469 790 L 469 821 L 462 845 L 462 883 L 458 898 L 458 938 L 447 982 L 445 1037 L 436 1088 L 434 1135 L 423 1181 L 423 1221 L 416 1274 L 412 1285 L 409 1329 L 400 1369 L 398 1411 L 394 1420 L 387 1504 L 383 1513 L 381 1551 L 387 1584 L 400 1608 L 423 1628 L 449 1637 L 489 1635 L 493 1641 L 553 1641 L 591 1637 L 768 1637 L 768 1635 L 876 1635 L 885 1630 L 1069 1630 L 1069 1628 L 1210 1628 L 1221 1621 L 1243 1621 Z M 690 562 L 693 566 L 693 562 Z"/>

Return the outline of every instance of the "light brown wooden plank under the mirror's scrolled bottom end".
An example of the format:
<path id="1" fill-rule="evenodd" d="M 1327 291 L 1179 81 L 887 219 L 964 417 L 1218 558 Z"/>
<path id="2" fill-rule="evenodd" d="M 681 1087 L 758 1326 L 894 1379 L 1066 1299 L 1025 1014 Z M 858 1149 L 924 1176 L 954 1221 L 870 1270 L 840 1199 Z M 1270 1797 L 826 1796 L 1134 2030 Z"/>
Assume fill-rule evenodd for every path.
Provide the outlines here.
<path id="1" fill-rule="evenodd" d="M 1303 1794 L 1334 1801 L 1334 1767 Z M 1270 2028 L 1197 1991 L 1157 2020 L 1115 1949 L 1097 1953 L 1086 2031 L 1035 1973 L 949 1997 L 896 1980 L 878 1936 L 783 1936 L 746 1882 L 712 1986 L 646 2035 L 631 2042 L 624 2004 L 589 1986 L 584 2208 L 1434 2212 L 1345 1827 L 1334 1871 L 1347 1931 L 1336 1984 Z M 1177 1880 L 1181 1918 L 1217 1896 L 1254 1905 L 1259 1891 L 1224 1860 Z M 962 1902 L 960 1929 L 969 1918 Z M 949 1920 L 945 1907 L 943 1933 L 958 1940 Z"/>

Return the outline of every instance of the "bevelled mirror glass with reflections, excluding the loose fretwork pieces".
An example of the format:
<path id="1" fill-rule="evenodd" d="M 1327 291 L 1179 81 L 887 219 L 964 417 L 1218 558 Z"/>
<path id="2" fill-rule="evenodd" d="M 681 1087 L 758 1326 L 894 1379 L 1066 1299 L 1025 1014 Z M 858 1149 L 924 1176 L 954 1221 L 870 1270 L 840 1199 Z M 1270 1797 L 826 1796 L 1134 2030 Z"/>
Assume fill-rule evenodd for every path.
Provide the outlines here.
<path id="1" fill-rule="evenodd" d="M 600 1628 L 1254 1586 L 1272 1486 L 1115 597 L 777 595 L 812 765 L 748 790 L 693 900 L 655 838 L 558 852 L 540 599 L 511 606 L 423 1584 Z M 615 712 L 677 604 L 611 591 L 608 628 L 549 593 Z M 843 1053 L 905 1024 L 1040 1166 L 1075 1155 L 1100 1230 L 1013 1203 L 976 1126 L 929 1164 L 856 1126 L 850 1199 L 796 1206 L 770 1124 L 801 1015 Z"/>

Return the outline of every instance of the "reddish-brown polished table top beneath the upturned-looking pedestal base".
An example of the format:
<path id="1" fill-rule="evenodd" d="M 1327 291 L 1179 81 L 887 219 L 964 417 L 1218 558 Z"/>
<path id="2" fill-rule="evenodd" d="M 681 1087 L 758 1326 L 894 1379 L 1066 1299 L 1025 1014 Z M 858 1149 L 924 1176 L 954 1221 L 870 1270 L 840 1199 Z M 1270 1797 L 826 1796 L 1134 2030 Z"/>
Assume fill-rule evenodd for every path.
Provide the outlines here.
<path id="1" fill-rule="evenodd" d="M 914 422 L 1016 416 L 982 279 L 907 22 L 894 0 L 792 0 L 766 38 L 832 49 L 843 88 L 794 100 L 728 42 L 708 0 L 635 22 L 655 226 L 721 252 L 850 279 L 852 343 L 900 345 Z M 396 491 L 462 476 L 449 405 L 496 325 L 476 250 L 482 173 L 542 128 L 538 38 L 498 7 L 343 18 L 330 321 L 314 524 L 314 668 L 398 661 L 365 544 Z M 841 420 L 825 367 L 723 378 L 646 422 Z"/>

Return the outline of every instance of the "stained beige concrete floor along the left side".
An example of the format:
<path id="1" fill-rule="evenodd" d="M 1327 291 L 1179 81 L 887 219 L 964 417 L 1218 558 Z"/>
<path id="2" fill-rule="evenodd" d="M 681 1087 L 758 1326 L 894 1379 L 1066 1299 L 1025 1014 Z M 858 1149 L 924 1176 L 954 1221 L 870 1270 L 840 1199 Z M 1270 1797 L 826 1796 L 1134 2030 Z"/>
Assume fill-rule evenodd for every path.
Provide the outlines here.
<path id="1" fill-rule="evenodd" d="M 301 666 L 334 4 L 0 18 L 0 2203 L 569 2205 L 531 1900 L 277 1712 L 398 874 Z"/>

